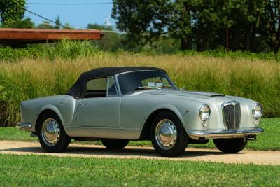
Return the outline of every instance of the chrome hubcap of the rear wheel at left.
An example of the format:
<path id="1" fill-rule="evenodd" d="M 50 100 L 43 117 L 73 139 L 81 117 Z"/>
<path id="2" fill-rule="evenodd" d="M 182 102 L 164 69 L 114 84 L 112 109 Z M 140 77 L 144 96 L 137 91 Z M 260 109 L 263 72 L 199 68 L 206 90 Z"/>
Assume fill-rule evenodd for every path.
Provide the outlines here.
<path id="1" fill-rule="evenodd" d="M 41 133 L 45 144 L 48 146 L 55 146 L 60 137 L 59 123 L 52 118 L 46 119 L 43 123 Z"/>

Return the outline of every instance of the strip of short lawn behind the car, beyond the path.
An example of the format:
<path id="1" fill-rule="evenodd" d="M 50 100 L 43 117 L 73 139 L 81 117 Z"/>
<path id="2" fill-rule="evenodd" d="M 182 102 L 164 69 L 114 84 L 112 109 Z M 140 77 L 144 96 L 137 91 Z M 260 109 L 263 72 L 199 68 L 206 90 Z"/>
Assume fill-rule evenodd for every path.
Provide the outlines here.
<path id="1" fill-rule="evenodd" d="M 258 135 L 257 141 L 249 141 L 246 148 L 262 151 L 280 151 L 280 118 L 264 118 L 260 127 L 265 129 L 263 134 Z M 18 130 L 15 127 L 0 127 L 0 141 L 38 141 L 37 138 L 29 137 L 28 132 Z M 97 142 L 77 142 L 74 144 L 101 144 Z M 151 146 L 151 141 L 130 141 L 130 146 Z M 215 148 L 213 141 L 209 144 L 193 144 L 188 147 L 194 148 Z"/>

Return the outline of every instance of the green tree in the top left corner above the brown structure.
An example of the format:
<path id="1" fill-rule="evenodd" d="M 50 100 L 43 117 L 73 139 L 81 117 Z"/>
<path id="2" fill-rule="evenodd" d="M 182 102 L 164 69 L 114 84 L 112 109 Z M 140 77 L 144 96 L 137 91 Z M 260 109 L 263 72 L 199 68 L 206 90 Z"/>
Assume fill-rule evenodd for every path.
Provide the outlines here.
<path id="1" fill-rule="evenodd" d="M 2 27 L 32 28 L 34 23 L 25 15 L 25 0 L 0 0 Z"/>

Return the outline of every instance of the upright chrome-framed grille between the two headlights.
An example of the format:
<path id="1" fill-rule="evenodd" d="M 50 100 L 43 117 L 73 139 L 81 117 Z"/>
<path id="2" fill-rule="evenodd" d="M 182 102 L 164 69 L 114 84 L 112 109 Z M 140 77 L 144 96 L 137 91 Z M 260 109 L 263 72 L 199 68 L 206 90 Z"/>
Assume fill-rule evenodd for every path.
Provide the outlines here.
<path id="1" fill-rule="evenodd" d="M 228 130 L 238 130 L 240 125 L 240 105 L 238 102 L 223 104 L 223 121 Z"/>

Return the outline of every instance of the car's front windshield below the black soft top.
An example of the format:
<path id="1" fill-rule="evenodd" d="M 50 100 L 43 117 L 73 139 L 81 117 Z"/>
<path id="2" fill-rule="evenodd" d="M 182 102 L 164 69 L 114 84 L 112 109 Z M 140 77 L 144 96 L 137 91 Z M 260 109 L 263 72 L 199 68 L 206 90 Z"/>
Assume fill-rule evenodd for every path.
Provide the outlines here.
<path id="1" fill-rule="evenodd" d="M 123 95 L 154 88 L 178 89 L 162 71 L 133 71 L 118 75 L 120 91 Z"/>

